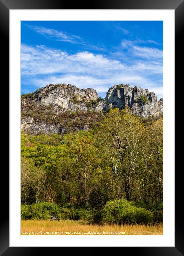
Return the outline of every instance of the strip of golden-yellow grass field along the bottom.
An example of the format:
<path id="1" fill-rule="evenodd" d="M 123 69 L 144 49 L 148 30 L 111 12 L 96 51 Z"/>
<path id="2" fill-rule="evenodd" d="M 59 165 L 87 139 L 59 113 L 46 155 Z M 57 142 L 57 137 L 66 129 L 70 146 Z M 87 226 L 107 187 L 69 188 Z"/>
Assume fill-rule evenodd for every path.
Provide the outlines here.
<path id="1" fill-rule="evenodd" d="M 163 224 L 92 225 L 74 220 L 22 220 L 21 235 L 163 235 Z"/>

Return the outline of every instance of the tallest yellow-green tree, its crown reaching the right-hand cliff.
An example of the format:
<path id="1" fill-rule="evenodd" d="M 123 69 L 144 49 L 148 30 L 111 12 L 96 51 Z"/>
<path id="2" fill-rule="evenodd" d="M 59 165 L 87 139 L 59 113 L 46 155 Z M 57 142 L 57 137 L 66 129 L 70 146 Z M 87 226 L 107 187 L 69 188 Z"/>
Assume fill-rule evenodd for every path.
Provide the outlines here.
<path id="1" fill-rule="evenodd" d="M 102 133 L 108 138 L 108 143 L 104 143 L 104 146 L 108 148 L 115 173 L 118 173 L 119 162 L 121 164 L 119 171 L 124 181 L 124 192 L 126 199 L 130 201 L 131 179 L 138 167 L 138 155 L 144 143 L 144 127 L 129 108 L 121 111 L 114 108 L 102 122 Z"/>

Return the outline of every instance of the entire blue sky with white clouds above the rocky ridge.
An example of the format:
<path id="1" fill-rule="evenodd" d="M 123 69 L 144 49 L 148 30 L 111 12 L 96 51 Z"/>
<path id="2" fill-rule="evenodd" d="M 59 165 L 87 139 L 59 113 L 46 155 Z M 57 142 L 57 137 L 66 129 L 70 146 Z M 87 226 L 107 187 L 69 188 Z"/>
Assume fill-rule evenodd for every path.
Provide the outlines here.
<path id="1" fill-rule="evenodd" d="M 163 97 L 163 21 L 21 21 L 21 94 L 47 84 L 116 84 Z"/>

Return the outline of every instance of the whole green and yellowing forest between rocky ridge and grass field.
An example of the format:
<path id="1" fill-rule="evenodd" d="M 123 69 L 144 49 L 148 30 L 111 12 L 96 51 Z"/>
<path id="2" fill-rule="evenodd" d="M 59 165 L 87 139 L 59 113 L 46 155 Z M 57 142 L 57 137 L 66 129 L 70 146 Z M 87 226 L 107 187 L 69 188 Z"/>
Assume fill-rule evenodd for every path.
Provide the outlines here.
<path id="1" fill-rule="evenodd" d="M 163 118 L 112 108 L 100 125 L 21 134 L 21 218 L 163 221 Z"/>

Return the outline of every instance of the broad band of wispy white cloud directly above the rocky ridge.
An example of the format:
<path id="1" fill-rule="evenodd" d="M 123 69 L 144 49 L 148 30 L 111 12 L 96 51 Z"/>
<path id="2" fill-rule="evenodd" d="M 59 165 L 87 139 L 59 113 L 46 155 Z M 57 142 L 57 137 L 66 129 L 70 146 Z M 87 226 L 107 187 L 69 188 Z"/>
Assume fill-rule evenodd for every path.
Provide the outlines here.
<path id="1" fill-rule="evenodd" d="M 29 79 L 35 87 L 50 83 L 71 83 L 92 87 L 102 96 L 115 84 L 130 84 L 155 91 L 163 97 L 163 64 L 160 50 L 132 45 L 133 58 L 127 64 L 88 51 L 68 54 L 46 46 L 21 46 L 22 84 Z M 149 58 L 146 56 L 149 56 Z"/>

